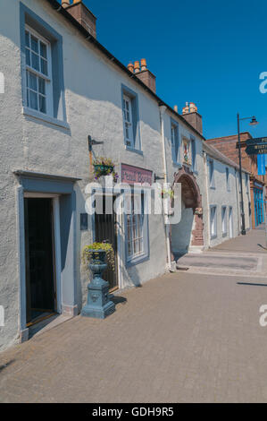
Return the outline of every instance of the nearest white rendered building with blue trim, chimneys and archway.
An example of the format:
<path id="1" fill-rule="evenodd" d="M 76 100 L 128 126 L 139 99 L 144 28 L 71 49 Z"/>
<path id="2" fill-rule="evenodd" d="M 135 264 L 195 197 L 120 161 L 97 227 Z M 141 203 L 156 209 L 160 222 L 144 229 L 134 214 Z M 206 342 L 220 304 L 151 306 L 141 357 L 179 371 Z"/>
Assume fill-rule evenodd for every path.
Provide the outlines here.
<path id="1" fill-rule="evenodd" d="M 81 2 L 63 3 L 0 0 L 0 350 L 27 339 L 39 316 L 79 314 L 84 245 L 113 243 L 116 271 L 108 276 L 119 290 L 170 269 L 171 251 L 210 245 L 196 109 L 179 116 L 155 94 L 144 60 L 125 67 L 97 42 L 94 15 Z M 120 179 L 131 180 L 113 200 L 133 201 L 135 182 L 146 179 L 140 218 L 86 213 L 96 156 L 113 159 Z M 163 215 L 143 211 L 154 178 L 182 185 L 182 217 L 171 233 Z"/>

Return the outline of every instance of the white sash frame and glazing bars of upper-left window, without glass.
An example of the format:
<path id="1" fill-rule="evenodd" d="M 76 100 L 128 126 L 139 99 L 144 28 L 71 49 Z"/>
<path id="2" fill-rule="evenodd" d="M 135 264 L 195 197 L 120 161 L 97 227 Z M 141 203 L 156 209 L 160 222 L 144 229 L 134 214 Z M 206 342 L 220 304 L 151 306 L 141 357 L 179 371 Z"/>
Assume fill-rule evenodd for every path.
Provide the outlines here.
<path id="1" fill-rule="evenodd" d="M 25 92 L 26 108 L 31 110 L 31 111 L 34 111 L 35 113 L 40 114 L 40 116 L 52 116 L 53 117 L 54 113 L 53 113 L 53 77 L 52 77 L 51 44 L 47 39 L 42 37 L 36 30 L 33 30 L 28 25 L 25 25 L 24 32 L 25 32 L 25 37 L 26 37 L 26 32 L 29 32 L 29 35 L 32 35 L 33 37 L 37 38 L 38 39 L 38 45 L 39 45 L 40 41 L 42 43 L 44 43 L 46 45 L 46 53 L 47 53 L 47 75 L 46 75 L 45 73 L 42 73 L 42 72 L 34 69 L 31 65 L 27 64 L 27 62 L 26 62 L 26 50 L 29 49 L 29 51 L 31 51 L 31 49 L 30 49 L 30 47 L 27 47 L 27 45 L 25 43 L 25 77 L 24 77 L 25 86 L 24 86 L 24 92 Z M 40 54 L 38 54 L 39 64 L 40 64 L 40 57 L 41 57 Z M 30 60 L 31 60 L 31 57 L 30 57 Z M 38 109 L 30 107 L 30 105 L 28 104 L 28 90 L 29 90 L 29 88 L 27 86 L 28 85 L 27 79 L 28 79 L 29 73 L 32 73 L 35 76 L 37 76 L 37 78 L 41 78 L 42 80 L 45 81 L 45 86 L 46 86 L 46 96 L 45 96 L 46 97 L 46 113 L 43 113 L 42 111 L 39 110 L 39 102 L 38 102 Z M 37 92 L 37 96 L 39 96 L 40 92 L 38 90 L 36 92 Z M 39 98 L 38 98 L 38 101 L 39 101 Z"/>

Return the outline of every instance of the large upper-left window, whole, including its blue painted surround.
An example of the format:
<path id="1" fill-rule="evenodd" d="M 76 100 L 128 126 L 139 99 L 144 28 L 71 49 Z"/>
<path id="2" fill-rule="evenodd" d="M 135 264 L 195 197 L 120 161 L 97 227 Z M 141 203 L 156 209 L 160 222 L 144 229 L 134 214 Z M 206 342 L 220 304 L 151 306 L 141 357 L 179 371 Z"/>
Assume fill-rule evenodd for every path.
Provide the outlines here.
<path id="1" fill-rule="evenodd" d="M 63 71 L 63 37 L 20 3 L 23 114 L 70 129 Z"/>

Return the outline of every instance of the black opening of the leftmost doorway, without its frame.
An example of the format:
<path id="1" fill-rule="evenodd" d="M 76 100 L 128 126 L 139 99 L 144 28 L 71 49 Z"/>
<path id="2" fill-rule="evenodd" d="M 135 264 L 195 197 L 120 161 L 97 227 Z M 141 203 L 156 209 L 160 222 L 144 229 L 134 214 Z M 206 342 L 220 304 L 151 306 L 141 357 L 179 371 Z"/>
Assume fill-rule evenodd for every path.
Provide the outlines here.
<path id="1" fill-rule="evenodd" d="M 53 208 L 51 199 L 25 199 L 27 322 L 54 312 Z"/>

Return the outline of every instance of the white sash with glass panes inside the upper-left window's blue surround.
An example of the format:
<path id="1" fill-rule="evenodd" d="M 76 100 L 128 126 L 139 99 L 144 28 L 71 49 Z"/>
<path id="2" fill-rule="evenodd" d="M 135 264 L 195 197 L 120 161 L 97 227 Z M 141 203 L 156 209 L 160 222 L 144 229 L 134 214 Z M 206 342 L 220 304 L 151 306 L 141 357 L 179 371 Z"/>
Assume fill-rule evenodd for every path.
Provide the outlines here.
<path id="1" fill-rule="evenodd" d="M 37 32 L 25 30 L 26 103 L 40 113 L 52 115 L 52 65 L 50 43 Z"/>

